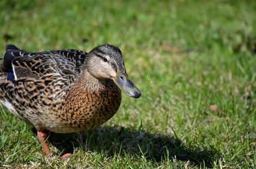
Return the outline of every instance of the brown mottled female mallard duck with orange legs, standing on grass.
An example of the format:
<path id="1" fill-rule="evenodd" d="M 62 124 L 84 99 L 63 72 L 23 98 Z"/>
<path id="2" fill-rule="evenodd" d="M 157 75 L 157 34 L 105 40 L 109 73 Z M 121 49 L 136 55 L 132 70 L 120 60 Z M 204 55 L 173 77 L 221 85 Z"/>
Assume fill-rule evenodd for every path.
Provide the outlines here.
<path id="1" fill-rule="evenodd" d="M 18 118 L 34 126 L 46 154 L 47 131 L 90 130 L 108 121 L 118 110 L 121 91 L 138 98 L 122 52 L 101 45 L 79 50 L 28 52 L 7 45 L 0 65 L 0 102 Z M 68 155 L 67 155 L 68 156 Z"/>

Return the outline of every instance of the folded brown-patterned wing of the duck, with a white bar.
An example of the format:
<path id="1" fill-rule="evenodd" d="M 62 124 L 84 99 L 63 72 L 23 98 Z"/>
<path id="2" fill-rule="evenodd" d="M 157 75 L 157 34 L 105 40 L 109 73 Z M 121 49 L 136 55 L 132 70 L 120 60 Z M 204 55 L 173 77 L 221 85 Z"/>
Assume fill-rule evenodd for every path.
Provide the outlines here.
<path id="1" fill-rule="evenodd" d="M 36 54 L 33 56 L 15 57 L 12 61 L 15 79 L 32 77 L 41 79 L 54 74 L 73 81 L 79 74 L 75 65 L 66 57 L 57 54 Z"/>

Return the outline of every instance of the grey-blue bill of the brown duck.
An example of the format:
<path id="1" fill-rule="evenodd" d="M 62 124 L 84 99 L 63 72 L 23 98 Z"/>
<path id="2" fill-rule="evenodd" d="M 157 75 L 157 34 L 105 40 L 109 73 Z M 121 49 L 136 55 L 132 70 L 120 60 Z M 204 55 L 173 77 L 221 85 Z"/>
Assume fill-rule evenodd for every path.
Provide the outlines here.
<path id="1" fill-rule="evenodd" d="M 132 83 L 126 73 L 120 73 L 116 75 L 114 82 L 128 96 L 134 97 L 136 99 L 141 96 L 140 90 L 138 90 L 138 88 Z"/>

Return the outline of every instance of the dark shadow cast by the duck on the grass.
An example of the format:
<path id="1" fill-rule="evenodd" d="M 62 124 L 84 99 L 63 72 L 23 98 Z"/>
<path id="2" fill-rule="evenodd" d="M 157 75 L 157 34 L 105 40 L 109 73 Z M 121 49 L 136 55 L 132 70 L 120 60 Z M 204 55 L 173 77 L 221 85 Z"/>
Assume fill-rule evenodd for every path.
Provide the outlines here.
<path id="1" fill-rule="evenodd" d="M 145 154 L 146 158 L 160 162 L 162 159 L 183 160 L 195 164 L 211 166 L 219 153 L 214 148 L 198 148 L 185 146 L 174 136 L 154 135 L 142 130 L 129 128 L 98 127 L 91 131 L 76 134 L 50 134 L 48 141 L 63 153 L 73 153 L 74 148 L 84 151 L 105 152 L 130 155 Z"/>

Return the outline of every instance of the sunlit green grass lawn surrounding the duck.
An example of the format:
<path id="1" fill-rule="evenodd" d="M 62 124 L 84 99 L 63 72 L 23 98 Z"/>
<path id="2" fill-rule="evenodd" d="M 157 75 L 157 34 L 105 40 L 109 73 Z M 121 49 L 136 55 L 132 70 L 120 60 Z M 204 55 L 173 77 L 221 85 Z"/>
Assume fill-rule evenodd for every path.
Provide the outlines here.
<path id="1" fill-rule="evenodd" d="M 51 134 L 50 157 L 2 109 L 0 168 L 255 168 L 255 16 L 254 1 L 1 1 L 0 51 L 110 43 L 142 96 L 92 131 Z"/>

